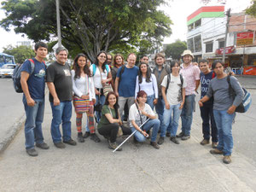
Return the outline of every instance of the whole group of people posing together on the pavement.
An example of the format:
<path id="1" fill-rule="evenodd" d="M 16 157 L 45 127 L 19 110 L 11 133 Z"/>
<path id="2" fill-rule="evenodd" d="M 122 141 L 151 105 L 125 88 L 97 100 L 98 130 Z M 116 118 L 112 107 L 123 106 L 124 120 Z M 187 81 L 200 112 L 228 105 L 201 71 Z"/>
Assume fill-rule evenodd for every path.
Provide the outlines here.
<path id="1" fill-rule="evenodd" d="M 189 139 L 195 94 L 201 84 L 199 105 L 204 137 L 201 144 L 210 143 L 212 136 L 213 149 L 210 152 L 224 154 L 224 162 L 230 163 L 233 148 L 231 125 L 235 118 L 235 109 L 241 103 L 243 91 L 237 79 L 230 77 L 236 97 L 229 96 L 227 75 L 221 61 L 212 63 L 213 71 L 207 60 L 200 61 L 198 67 L 192 62 L 194 56 L 191 51 L 184 50 L 183 64 L 171 61 L 168 66 L 165 64 L 165 56 L 159 53 L 154 57 L 155 67 L 151 70 L 147 55 L 143 55 L 137 67 L 137 55 L 134 53 L 127 56 L 125 64 L 123 55 L 117 54 L 112 58 L 112 55 L 101 51 L 96 55 L 93 64 L 88 64 L 86 55 L 79 54 L 73 61 L 73 67 L 70 67 L 66 62 L 67 49 L 59 47 L 55 50 L 56 61 L 46 69 L 44 58 L 48 53 L 47 45 L 42 42 L 35 44 L 35 53 L 34 71 L 31 73 L 31 62 L 25 61 L 20 79 L 26 111 L 27 154 L 38 155 L 35 143 L 38 148 L 49 148 L 44 143 L 42 132 L 45 82 L 49 88 L 52 109 L 50 131 L 55 147 L 65 148 L 64 143 L 77 144 L 71 137 L 70 119 L 73 104 L 78 142 L 83 143 L 87 137 L 96 143 L 100 142 L 101 139 L 96 134 L 97 128 L 99 134 L 108 139 L 108 148 L 117 148 L 119 151 L 122 148 L 118 148 L 116 139 L 120 131 L 124 135 L 135 131 L 134 142 L 144 142 L 146 138 L 150 138 L 150 145 L 157 149 L 165 142 L 166 137 L 170 137 L 176 144 L 179 144 L 177 138 L 183 141 Z M 99 107 L 100 110 L 94 110 Z M 87 114 L 84 135 L 83 113 Z M 125 126 L 127 116 L 129 124 Z M 182 127 L 177 135 L 180 117 Z M 158 133 L 160 137 L 156 141 Z"/>

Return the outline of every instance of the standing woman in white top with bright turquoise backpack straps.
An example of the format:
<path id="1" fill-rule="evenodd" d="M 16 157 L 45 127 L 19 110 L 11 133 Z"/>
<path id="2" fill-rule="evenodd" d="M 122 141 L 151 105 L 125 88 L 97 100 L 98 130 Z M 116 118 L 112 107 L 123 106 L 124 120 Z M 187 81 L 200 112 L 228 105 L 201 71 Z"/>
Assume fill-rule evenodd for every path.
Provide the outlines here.
<path id="1" fill-rule="evenodd" d="M 96 104 L 100 102 L 102 105 L 105 102 L 105 96 L 103 94 L 103 86 L 109 84 L 112 80 L 112 75 L 107 64 L 107 54 L 101 51 L 96 56 L 96 61 L 90 66 L 92 72 L 93 81 L 95 85 Z M 96 112 L 97 122 L 101 119 L 101 113 Z"/>

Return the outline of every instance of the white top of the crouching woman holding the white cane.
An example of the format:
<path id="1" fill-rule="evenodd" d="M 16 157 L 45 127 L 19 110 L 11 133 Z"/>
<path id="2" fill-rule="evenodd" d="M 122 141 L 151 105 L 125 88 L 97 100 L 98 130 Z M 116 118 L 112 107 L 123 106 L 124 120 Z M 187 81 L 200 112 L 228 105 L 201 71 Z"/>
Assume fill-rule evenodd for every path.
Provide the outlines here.
<path id="1" fill-rule="evenodd" d="M 145 103 L 144 111 L 146 113 L 150 114 L 150 115 L 154 115 L 154 111 L 152 110 L 152 108 L 147 103 Z M 131 120 L 135 120 L 135 123 L 138 126 L 142 125 L 140 115 L 141 115 L 143 123 L 144 123 L 145 120 L 147 119 L 147 116 L 143 115 L 141 112 L 139 112 L 137 110 L 136 103 L 132 104 L 131 108 L 129 110 L 130 127 L 133 127 L 133 125 L 131 124 Z"/>

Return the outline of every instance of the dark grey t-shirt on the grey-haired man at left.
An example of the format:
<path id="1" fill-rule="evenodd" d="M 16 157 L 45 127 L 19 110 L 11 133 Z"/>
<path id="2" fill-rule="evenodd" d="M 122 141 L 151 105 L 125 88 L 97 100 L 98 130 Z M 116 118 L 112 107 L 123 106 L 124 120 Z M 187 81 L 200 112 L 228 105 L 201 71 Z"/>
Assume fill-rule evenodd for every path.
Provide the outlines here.
<path id="1" fill-rule="evenodd" d="M 55 84 L 56 94 L 61 102 L 72 101 L 73 84 L 70 67 L 65 63 L 61 65 L 57 61 L 49 65 L 46 71 L 46 81 Z M 53 96 L 49 93 L 49 102 L 53 102 Z"/>

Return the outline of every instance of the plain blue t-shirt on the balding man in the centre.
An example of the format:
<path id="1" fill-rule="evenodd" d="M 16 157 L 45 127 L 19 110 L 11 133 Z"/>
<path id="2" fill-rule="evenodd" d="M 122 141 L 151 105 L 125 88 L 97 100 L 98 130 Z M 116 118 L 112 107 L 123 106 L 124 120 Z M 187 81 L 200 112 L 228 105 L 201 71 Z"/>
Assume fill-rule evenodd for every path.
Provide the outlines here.
<path id="1" fill-rule="evenodd" d="M 120 77 L 122 67 L 119 67 L 117 77 Z M 127 68 L 125 67 L 122 73 L 121 80 L 119 81 L 119 96 L 130 97 L 135 96 L 135 85 L 138 73 L 138 67 Z"/>

